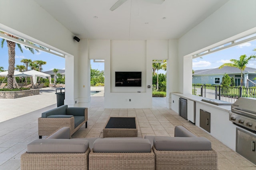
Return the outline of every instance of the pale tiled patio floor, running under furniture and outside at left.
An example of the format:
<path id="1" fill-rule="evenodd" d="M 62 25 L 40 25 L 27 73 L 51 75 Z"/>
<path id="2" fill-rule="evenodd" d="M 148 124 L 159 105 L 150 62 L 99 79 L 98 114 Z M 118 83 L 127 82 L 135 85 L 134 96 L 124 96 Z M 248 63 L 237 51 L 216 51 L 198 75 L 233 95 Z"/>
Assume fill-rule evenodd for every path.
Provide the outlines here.
<path id="1" fill-rule="evenodd" d="M 165 98 L 152 98 L 152 109 L 105 109 L 104 97 L 92 97 L 88 109 L 88 128 L 83 125 L 72 137 L 102 137 L 110 116 L 136 116 L 138 136 L 174 136 L 174 126 L 184 125 L 212 142 L 218 152 L 219 170 L 255 170 L 256 165 L 223 145 L 205 131 L 164 106 Z M 38 139 L 38 117 L 56 107 L 55 89 L 42 88 L 40 95 L 18 99 L 0 99 L 0 170 L 19 170 L 20 156 L 26 145 Z"/>

